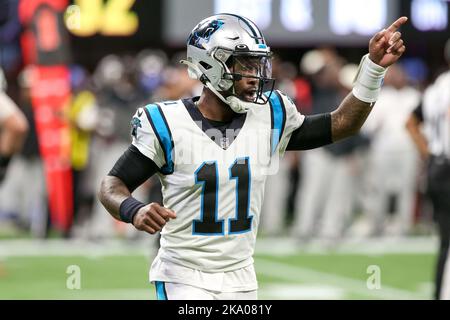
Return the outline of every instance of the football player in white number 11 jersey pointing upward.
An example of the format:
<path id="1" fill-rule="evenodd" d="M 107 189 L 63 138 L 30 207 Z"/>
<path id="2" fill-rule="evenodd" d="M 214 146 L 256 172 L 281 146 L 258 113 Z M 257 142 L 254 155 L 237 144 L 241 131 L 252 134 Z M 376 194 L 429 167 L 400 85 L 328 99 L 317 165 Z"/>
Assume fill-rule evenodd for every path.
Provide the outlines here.
<path id="1" fill-rule="evenodd" d="M 200 97 L 137 110 L 133 142 L 102 181 L 111 215 L 138 230 L 161 231 L 150 270 L 158 299 L 256 299 L 253 251 L 266 176 L 286 150 L 320 147 L 361 128 L 386 68 L 405 51 L 401 17 L 378 32 L 353 92 L 333 112 L 303 116 L 274 91 L 271 51 L 258 27 L 234 14 L 201 21 L 187 40 Z M 163 204 L 131 195 L 157 174 Z"/>

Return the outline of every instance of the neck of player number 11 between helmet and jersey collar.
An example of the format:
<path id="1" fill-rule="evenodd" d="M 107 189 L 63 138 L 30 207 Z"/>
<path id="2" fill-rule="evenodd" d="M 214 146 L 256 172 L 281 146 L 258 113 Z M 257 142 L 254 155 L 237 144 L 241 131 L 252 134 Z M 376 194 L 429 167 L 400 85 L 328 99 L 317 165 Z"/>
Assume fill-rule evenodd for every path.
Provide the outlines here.
<path id="1" fill-rule="evenodd" d="M 227 122 L 231 121 L 236 115 L 226 103 L 207 88 L 203 89 L 197 107 L 202 115 L 209 120 Z"/>

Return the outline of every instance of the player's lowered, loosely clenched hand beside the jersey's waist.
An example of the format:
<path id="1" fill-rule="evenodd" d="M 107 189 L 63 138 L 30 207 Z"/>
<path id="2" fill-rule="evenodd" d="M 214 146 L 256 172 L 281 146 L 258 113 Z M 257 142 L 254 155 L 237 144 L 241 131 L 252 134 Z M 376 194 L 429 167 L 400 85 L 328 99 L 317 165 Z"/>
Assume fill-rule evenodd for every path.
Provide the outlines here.
<path id="1" fill-rule="evenodd" d="M 173 210 L 152 202 L 139 209 L 133 218 L 133 225 L 138 230 L 154 234 L 161 231 L 170 219 L 175 219 L 176 217 L 177 215 Z"/>

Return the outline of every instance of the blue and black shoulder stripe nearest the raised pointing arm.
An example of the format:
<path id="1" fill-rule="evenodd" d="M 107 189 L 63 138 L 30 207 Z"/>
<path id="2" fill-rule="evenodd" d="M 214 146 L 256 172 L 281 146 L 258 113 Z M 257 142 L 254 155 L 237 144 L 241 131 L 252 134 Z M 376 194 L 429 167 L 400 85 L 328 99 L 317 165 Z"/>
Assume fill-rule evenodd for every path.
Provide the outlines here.
<path id="1" fill-rule="evenodd" d="M 268 96 L 268 93 L 265 93 Z M 286 107 L 283 98 L 278 91 L 273 91 L 269 98 L 270 119 L 271 119 L 271 137 L 270 151 L 273 154 L 283 136 L 286 125 Z"/>

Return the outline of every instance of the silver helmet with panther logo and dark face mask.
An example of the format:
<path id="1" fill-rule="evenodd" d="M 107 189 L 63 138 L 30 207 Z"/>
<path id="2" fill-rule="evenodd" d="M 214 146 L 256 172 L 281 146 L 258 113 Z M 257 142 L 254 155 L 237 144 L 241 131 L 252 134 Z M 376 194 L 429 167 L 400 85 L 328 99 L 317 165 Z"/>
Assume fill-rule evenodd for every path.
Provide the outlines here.
<path id="1" fill-rule="evenodd" d="M 231 103 L 237 100 L 233 99 L 234 82 L 243 77 L 257 79 L 258 88 L 252 96 L 253 101 L 246 101 L 246 104 L 267 103 L 275 84 L 271 78 L 271 55 L 261 31 L 252 21 L 224 13 L 197 24 L 187 40 L 187 61 L 182 60 L 181 63 L 188 65 L 191 78 L 200 80 L 234 111 L 245 112 L 242 106 Z M 233 66 L 245 64 L 246 59 L 253 61 L 252 68 L 256 68 L 256 74 L 233 73 Z"/>

